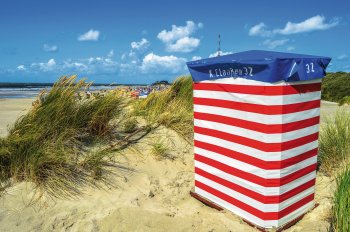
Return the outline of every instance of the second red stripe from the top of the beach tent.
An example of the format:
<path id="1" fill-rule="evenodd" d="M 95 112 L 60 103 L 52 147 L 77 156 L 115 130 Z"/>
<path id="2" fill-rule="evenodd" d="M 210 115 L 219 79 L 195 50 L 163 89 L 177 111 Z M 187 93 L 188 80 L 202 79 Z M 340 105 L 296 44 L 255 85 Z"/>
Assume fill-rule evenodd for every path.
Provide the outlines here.
<path id="1" fill-rule="evenodd" d="M 246 102 L 235 102 L 222 99 L 194 97 L 193 104 L 222 107 L 245 112 L 252 112 L 265 115 L 279 115 L 301 112 L 320 107 L 320 100 L 286 104 L 286 105 L 260 105 Z"/>

